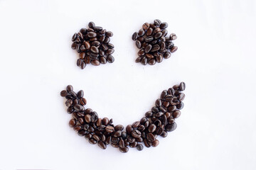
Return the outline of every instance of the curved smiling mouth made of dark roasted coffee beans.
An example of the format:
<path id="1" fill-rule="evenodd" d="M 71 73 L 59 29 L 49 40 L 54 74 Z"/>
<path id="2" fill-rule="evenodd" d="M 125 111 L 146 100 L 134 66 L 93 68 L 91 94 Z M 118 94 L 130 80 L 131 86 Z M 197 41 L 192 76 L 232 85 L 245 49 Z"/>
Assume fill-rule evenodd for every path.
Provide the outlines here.
<path id="1" fill-rule="evenodd" d="M 166 137 L 167 132 L 174 131 L 177 127 L 175 119 L 181 115 L 185 84 L 175 85 L 161 93 L 156 100 L 155 106 L 145 116 L 132 125 L 113 125 L 113 120 L 99 118 L 95 111 L 85 109 L 87 103 L 83 97 L 84 92 L 73 91 L 73 86 L 68 85 L 66 90 L 60 92 L 60 96 L 67 99 L 65 105 L 67 112 L 72 114 L 69 125 L 78 135 L 84 136 L 90 144 L 97 144 L 100 148 L 106 149 L 107 145 L 119 148 L 120 152 L 128 152 L 129 147 L 136 147 L 141 151 L 145 147 L 156 147 L 159 145 L 157 137 Z M 144 146 L 142 145 L 144 143 Z"/>

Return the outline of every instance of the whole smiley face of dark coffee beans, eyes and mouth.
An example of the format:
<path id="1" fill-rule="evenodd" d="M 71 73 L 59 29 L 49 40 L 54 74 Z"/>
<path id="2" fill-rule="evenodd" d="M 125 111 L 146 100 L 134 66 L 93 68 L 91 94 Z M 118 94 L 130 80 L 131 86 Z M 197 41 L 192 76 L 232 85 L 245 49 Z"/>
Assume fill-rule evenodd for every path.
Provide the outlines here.
<path id="1" fill-rule="evenodd" d="M 165 37 L 167 26 L 167 23 L 155 20 L 154 23 L 144 23 L 139 33 L 132 35 L 132 39 L 137 41 L 137 47 L 139 46 L 140 49 L 136 62 L 152 65 L 161 62 L 163 57 L 169 58 L 171 52 L 177 50 L 171 42 L 176 39 L 176 35 Z M 72 48 L 80 53 L 78 66 L 84 69 L 89 63 L 100 65 L 100 63 L 114 62 L 112 57 L 114 45 L 109 43 L 111 36 L 112 32 L 96 27 L 92 22 L 89 23 L 89 28 L 82 28 L 80 33 L 75 33 L 72 38 Z M 129 151 L 128 146 L 136 147 L 139 151 L 144 146 L 156 147 L 159 145 L 159 140 L 156 139 L 158 136 L 166 137 L 168 132 L 177 128 L 175 120 L 181 115 L 180 110 L 184 106 L 185 88 L 185 83 L 181 82 L 162 91 L 151 111 L 146 112 L 141 120 L 127 125 L 126 128 L 123 125 L 113 125 L 112 119 L 99 118 L 91 108 L 85 108 L 87 101 L 82 90 L 75 93 L 73 86 L 68 85 L 60 92 L 60 96 L 67 99 L 65 101 L 67 112 L 73 117 L 69 125 L 78 132 L 78 135 L 84 136 L 90 144 L 97 144 L 102 149 L 106 149 L 107 145 L 111 144 L 112 147 L 119 148 L 120 152 L 126 153 Z"/>

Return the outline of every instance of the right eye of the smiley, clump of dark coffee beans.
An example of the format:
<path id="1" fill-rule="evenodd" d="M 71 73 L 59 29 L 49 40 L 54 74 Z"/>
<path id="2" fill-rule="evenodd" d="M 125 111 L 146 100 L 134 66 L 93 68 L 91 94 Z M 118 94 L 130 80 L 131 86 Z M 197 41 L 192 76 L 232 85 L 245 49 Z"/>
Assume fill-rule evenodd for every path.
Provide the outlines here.
<path id="1" fill-rule="evenodd" d="M 177 36 L 174 33 L 166 36 L 167 27 L 167 23 L 156 19 L 154 23 L 144 23 L 142 29 L 132 35 L 132 40 L 136 41 L 136 46 L 139 48 L 139 57 L 135 62 L 154 65 L 156 62 L 162 62 L 163 58 L 168 59 L 171 57 L 171 52 L 178 50 L 172 42 Z"/>

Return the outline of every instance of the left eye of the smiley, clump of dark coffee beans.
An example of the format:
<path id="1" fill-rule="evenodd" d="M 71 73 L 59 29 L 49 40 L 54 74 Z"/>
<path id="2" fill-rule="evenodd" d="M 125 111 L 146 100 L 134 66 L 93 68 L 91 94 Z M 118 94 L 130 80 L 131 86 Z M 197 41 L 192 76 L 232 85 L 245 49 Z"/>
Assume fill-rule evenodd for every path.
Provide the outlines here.
<path id="1" fill-rule="evenodd" d="M 72 37 L 71 48 L 79 53 L 78 67 L 84 69 L 86 64 L 98 66 L 107 62 L 114 62 L 112 56 L 114 45 L 110 43 L 111 31 L 107 31 L 95 23 L 90 22 L 89 28 L 81 28 L 79 33 Z"/>

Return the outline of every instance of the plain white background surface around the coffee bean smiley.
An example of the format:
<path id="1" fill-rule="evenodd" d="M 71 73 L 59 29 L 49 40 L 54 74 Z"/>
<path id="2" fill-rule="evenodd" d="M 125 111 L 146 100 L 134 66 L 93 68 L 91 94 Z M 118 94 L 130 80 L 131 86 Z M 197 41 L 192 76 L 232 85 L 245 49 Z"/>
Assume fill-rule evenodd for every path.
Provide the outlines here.
<path id="1" fill-rule="evenodd" d="M 137 64 L 132 33 L 156 18 L 178 50 Z M 70 40 L 90 21 L 114 33 L 115 61 L 81 70 Z M 0 169 L 256 169 L 255 21 L 253 0 L 0 0 Z M 180 81 L 178 128 L 142 152 L 90 145 L 60 97 L 72 84 L 101 118 L 126 126 Z"/>

